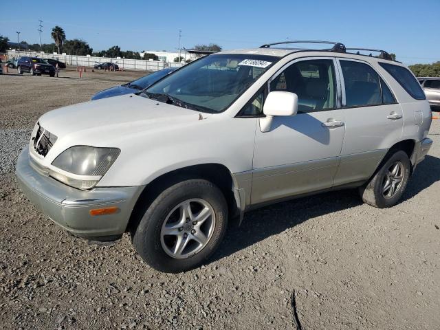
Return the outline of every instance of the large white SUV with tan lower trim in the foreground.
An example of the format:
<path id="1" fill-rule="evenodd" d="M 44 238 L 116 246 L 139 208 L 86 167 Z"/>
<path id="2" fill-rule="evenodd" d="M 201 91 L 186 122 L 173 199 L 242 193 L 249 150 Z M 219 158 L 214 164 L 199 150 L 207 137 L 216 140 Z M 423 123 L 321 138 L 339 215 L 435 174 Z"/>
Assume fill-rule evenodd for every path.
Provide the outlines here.
<path id="1" fill-rule="evenodd" d="M 164 272 L 205 262 L 231 217 L 268 203 L 357 187 L 395 206 L 432 145 L 415 76 L 383 51 L 273 45 L 45 113 L 17 160 L 21 190 L 76 236 L 130 232 Z"/>

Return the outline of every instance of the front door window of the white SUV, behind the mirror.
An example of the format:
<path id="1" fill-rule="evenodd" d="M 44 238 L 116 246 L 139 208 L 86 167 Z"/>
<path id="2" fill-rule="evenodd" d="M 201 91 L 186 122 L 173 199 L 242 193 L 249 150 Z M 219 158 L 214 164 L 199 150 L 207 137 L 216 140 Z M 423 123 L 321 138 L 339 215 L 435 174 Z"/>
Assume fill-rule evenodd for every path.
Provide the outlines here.
<path id="1" fill-rule="evenodd" d="M 334 109 L 336 78 L 333 60 L 294 63 L 272 80 L 270 90 L 298 95 L 299 113 Z"/>

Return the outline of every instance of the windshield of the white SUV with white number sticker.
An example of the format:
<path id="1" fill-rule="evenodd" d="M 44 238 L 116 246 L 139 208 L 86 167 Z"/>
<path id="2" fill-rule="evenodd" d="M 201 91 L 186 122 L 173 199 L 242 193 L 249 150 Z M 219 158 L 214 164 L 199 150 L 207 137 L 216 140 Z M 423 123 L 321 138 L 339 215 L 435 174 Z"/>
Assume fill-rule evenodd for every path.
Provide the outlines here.
<path id="1" fill-rule="evenodd" d="M 188 109 L 219 113 L 278 60 L 252 54 L 206 56 L 157 82 L 145 94 Z"/>

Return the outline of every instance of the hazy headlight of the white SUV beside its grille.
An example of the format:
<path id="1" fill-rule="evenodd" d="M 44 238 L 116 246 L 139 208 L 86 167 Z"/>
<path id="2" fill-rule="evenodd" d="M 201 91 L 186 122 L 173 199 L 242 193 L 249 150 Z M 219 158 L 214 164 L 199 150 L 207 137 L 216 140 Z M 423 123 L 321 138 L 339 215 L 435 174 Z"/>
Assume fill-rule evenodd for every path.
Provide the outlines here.
<path id="1" fill-rule="evenodd" d="M 93 188 L 120 154 L 118 148 L 72 146 L 55 158 L 50 176 L 69 186 Z"/>

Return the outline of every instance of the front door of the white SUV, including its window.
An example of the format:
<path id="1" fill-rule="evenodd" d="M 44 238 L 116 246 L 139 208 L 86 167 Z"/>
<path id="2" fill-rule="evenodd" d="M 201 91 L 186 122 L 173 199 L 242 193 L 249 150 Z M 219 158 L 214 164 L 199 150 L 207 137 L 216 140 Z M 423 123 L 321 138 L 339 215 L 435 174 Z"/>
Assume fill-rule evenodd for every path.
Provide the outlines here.
<path id="1" fill-rule="evenodd" d="M 274 117 L 256 131 L 252 203 L 331 188 L 344 138 L 340 79 L 334 58 L 296 60 L 270 81 L 270 91 L 298 95 L 298 114 Z"/>

